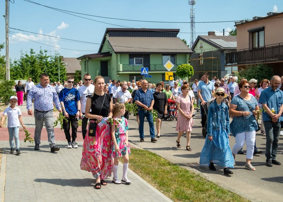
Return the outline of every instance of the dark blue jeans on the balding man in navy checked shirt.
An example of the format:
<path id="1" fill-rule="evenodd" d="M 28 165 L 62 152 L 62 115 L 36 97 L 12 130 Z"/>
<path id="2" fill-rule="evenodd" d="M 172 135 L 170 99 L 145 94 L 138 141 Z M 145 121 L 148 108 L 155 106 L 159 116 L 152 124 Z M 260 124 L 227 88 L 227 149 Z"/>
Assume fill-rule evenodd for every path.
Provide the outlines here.
<path id="1" fill-rule="evenodd" d="M 150 137 L 155 137 L 152 113 L 145 110 L 139 110 L 139 138 L 144 138 L 144 118 L 148 120 Z"/>

